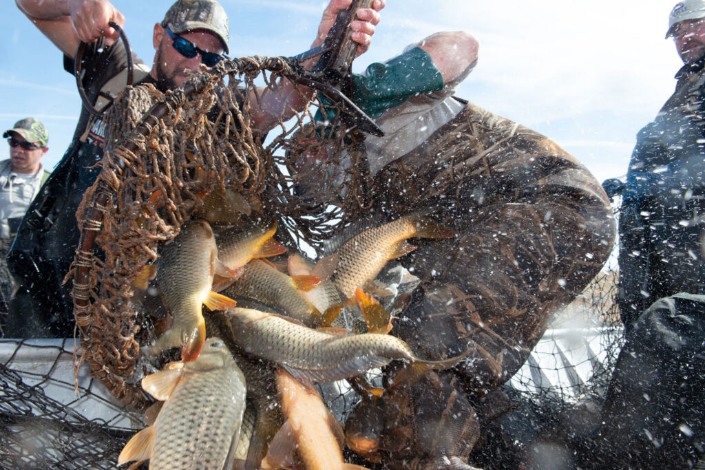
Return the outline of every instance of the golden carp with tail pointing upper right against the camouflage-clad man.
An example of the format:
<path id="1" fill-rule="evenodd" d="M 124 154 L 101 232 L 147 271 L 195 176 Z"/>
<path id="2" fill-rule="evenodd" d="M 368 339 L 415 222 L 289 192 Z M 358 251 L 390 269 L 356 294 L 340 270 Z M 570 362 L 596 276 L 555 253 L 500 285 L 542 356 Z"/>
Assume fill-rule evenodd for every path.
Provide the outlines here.
<path id="1" fill-rule="evenodd" d="M 411 214 L 364 230 L 338 249 L 338 265 L 331 277 L 336 287 L 350 299 L 355 288 L 374 280 L 387 261 L 404 256 L 416 249 L 406 240 L 412 237 L 449 238 L 452 230 L 431 221 L 426 216 Z"/>

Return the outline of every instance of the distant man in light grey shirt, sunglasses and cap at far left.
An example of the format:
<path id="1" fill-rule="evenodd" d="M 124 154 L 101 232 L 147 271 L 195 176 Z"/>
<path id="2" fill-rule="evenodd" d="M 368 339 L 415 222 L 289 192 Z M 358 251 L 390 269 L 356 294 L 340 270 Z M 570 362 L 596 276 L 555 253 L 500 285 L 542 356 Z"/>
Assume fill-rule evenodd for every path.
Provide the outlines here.
<path id="1" fill-rule="evenodd" d="M 10 158 L 0 161 L 0 316 L 7 312 L 13 290 L 5 256 L 27 206 L 49 177 L 39 162 L 49 150 L 49 134 L 39 120 L 20 119 L 2 136 L 9 144 Z M 0 326 L 4 323 L 0 318 Z"/>

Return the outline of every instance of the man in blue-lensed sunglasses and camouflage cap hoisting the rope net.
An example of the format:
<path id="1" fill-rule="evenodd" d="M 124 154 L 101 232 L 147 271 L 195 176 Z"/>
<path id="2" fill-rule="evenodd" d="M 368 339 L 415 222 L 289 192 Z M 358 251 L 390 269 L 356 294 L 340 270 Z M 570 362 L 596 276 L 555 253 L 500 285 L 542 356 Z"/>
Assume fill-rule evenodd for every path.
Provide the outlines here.
<path id="1" fill-rule="evenodd" d="M 339 10 L 352 0 L 329 0 L 312 47 L 323 41 Z M 358 52 L 369 47 L 374 26 L 385 0 L 358 12 L 350 25 Z M 99 111 L 106 109 L 126 82 L 127 55 L 123 42 L 109 22 L 121 27 L 125 18 L 108 0 L 16 0 L 18 8 L 64 54 L 64 68 L 73 73 L 73 57 L 80 41 L 86 42 L 82 56 L 82 85 Z M 152 83 L 162 92 L 180 87 L 190 70 L 214 66 L 228 54 L 228 16 L 216 0 L 178 0 L 154 25 L 152 43 L 156 50 L 152 68 L 138 62 L 135 82 Z M 304 66 L 312 67 L 315 58 Z M 281 118 L 304 106 L 305 95 L 293 92 L 285 81 L 275 92 L 252 100 L 253 128 L 266 132 Z M 307 90 L 304 90 L 307 91 Z M 254 98 L 254 95 L 253 95 Z M 66 337 L 73 335 L 71 283 L 62 285 L 78 245 L 75 211 L 85 190 L 100 171 L 105 125 L 82 109 L 73 142 L 47 185 L 32 204 L 32 216 L 18 230 L 8 254 L 8 264 L 23 280 L 10 306 L 6 335 L 24 337 Z M 15 313 L 16 312 L 16 313 Z"/>

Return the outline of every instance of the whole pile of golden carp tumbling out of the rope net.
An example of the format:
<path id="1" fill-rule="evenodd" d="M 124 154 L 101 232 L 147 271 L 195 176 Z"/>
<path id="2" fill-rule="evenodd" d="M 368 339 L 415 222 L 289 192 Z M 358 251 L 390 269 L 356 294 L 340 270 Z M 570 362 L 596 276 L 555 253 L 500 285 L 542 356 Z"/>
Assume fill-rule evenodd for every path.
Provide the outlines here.
<path id="1" fill-rule="evenodd" d="M 237 197 L 220 194 L 211 205 L 232 205 L 226 199 Z M 412 214 L 360 230 L 313 264 L 298 253 L 284 258 L 286 247 L 274 239 L 276 223 L 245 222 L 247 204 L 237 204 L 236 212 L 244 214 L 235 214 L 234 225 L 202 210 L 203 218 L 185 223 L 135 280 L 134 301 L 165 312 L 154 322 L 157 336 L 147 357 L 156 360 L 178 348 L 181 360 L 142 378 L 157 402 L 145 416 L 149 426 L 125 445 L 118 464 L 137 461 L 136 468 L 149 459 L 150 469 L 362 468 L 344 462 L 343 426 L 313 385 L 347 380 L 376 399 L 465 357 L 467 352 L 444 361 L 416 357 L 389 334 L 393 318 L 375 298 L 388 294 L 375 282 L 388 261 L 415 249 L 407 239 L 454 234 Z M 395 360 L 405 366 L 386 388 L 364 378 Z"/>

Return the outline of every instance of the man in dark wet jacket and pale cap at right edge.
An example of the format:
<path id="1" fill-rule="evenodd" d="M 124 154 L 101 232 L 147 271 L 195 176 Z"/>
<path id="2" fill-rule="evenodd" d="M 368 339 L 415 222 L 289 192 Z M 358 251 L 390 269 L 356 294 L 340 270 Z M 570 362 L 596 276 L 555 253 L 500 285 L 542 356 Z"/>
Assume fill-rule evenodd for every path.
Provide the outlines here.
<path id="1" fill-rule="evenodd" d="M 684 66 L 675 92 L 637 134 L 622 194 L 620 314 L 626 342 L 592 464 L 694 466 L 705 452 L 705 1 L 668 18 Z"/>

